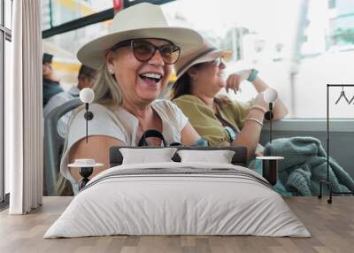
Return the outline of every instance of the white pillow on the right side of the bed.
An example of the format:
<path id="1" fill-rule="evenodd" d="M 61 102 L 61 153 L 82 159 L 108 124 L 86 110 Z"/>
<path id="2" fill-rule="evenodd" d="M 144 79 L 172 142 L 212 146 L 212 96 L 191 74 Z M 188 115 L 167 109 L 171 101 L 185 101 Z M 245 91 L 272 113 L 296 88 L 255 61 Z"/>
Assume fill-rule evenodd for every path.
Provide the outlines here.
<path id="1" fill-rule="evenodd" d="M 181 157 L 181 163 L 186 162 L 208 162 L 218 164 L 231 164 L 235 151 L 232 150 L 179 150 L 177 154 Z"/>

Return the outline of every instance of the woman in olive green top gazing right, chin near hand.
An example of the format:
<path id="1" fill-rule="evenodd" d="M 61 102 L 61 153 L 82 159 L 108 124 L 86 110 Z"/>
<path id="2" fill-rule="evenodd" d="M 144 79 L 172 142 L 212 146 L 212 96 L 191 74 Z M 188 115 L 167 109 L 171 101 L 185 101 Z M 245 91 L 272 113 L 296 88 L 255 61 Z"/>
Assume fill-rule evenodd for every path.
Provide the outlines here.
<path id="1" fill-rule="evenodd" d="M 171 97 L 210 146 L 245 146 L 250 158 L 258 146 L 268 108 L 263 99 L 268 85 L 256 70 L 233 73 L 224 80 L 224 60 L 231 56 L 231 50 L 218 50 L 210 42 L 204 42 L 200 50 L 182 57 L 174 65 L 177 80 Z M 258 91 L 258 96 L 250 102 L 233 102 L 217 96 L 221 88 L 237 92 L 243 80 L 248 80 Z M 274 104 L 273 119 L 282 119 L 287 114 L 285 105 L 279 99 Z"/>

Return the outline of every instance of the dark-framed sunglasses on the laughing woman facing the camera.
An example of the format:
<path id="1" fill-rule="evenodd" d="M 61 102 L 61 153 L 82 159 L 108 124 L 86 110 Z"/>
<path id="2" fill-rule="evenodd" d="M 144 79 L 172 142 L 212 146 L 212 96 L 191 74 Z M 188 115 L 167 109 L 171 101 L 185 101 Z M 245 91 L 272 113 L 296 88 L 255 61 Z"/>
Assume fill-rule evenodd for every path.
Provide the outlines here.
<path id="1" fill-rule="evenodd" d="M 111 50 L 118 50 L 121 47 L 130 45 L 135 58 L 141 62 L 150 61 L 154 57 L 156 50 L 159 51 L 161 58 L 166 65 L 173 65 L 181 55 L 181 48 L 169 42 L 162 46 L 155 46 L 153 43 L 144 40 L 129 40 L 119 42 L 114 45 Z"/>

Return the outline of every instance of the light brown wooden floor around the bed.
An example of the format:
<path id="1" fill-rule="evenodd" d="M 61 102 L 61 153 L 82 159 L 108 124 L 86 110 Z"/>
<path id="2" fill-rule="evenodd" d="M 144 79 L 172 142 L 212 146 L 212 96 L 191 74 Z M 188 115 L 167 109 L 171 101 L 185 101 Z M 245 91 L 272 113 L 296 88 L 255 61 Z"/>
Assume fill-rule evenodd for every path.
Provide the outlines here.
<path id="1" fill-rule="evenodd" d="M 24 216 L 0 213 L 0 252 L 354 252 L 354 197 L 286 198 L 312 238 L 256 236 L 109 236 L 42 239 L 71 197 L 44 197 L 43 206 Z"/>

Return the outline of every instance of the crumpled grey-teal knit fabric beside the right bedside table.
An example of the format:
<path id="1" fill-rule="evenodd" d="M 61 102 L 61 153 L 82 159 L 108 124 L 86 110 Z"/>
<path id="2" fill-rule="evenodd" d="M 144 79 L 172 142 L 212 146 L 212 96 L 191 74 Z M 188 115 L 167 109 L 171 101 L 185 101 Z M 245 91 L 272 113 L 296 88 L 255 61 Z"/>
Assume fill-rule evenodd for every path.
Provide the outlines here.
<path id="1" fill-rule="evenodd" d="M 313 137 L 281 138 L 268 142 L 266 156 L 281 156 L 278 179 L 287 190 L 296 188 L 302 196 L 319 195 L 319 181 L 327 179 L 326 151 L 318 139 Z M 354 180 L 335 159 L 329 158 L 329 181 L 333 191 L 354 190 Z M 328 195 L 327 186 L 322 187 L 323 195 Z"/>

